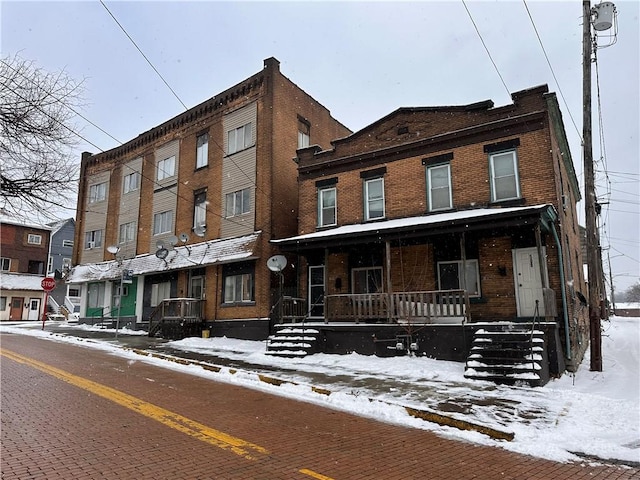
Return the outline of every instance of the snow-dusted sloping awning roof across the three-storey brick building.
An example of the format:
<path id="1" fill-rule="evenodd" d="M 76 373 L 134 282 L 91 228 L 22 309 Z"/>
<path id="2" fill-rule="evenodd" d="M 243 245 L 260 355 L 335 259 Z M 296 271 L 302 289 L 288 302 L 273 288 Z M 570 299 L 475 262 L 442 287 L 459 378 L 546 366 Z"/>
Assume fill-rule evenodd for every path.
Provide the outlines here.
<path id="1" fill-rule="evenodd" d="M 77 265 L 69 272 L 67 283 L 115 280 L 120 278 L 122 269 L 133 270 L 133 275 L 145 275 L 249 260 L 261 233 L 175 247 L 164 260 L 156 257 L 155 253 L 146 253 L 125 259 L 122 266 L 118 266 L 116 260 Z"/>

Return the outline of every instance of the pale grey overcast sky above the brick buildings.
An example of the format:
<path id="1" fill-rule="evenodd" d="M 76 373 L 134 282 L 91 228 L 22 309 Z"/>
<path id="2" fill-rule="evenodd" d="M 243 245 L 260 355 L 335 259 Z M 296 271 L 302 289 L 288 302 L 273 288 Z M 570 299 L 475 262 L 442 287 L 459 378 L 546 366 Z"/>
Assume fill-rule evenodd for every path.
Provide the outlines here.
<path id="1" fill-rule="evenodd" d="M 621 291 L 638 281 L 640 271 L 640 2 L 615 4 L 617 43 L 597 52 L 606 156 L 601 159 L 595 64 L 593 155 L 598 196 L 610 202 L 602 216 L 605 273 L 608 253 Z M 83 115 L 120 142 L 181 113 L 181 102 L 193 107 L 258 72 L 273 56 L 285 76 L 353 131 L 399 107 L 487 99 L 500 106 L 511 103 L 507 91 L 546 83 L 558 94 L 584 185 L 578 0 L 467 0 L 471 15 L 462 0 L 105 5 L 180 100 L 99 1 L 3 0 L 1 50 L 3 56 L 19 53 L 46 70 L 84 79 Z M 611 40 L 601 38 L 599 44 Z M 91 142 L 82 141 L 78 159 L 83 150 L 119 144 L 83 119 L 78 126 Z M 582 203 L 580 209 L 584 225 Z"/>

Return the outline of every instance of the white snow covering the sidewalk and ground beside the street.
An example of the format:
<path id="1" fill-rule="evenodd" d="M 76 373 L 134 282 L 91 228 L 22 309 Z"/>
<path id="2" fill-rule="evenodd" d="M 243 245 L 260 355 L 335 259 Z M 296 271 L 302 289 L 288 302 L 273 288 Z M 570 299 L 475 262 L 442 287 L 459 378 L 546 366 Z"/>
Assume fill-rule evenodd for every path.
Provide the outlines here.
<path id="1" fill-rule="evenodd" d="M 24 328 L 30 326 L 31 328 Z M 90 329 L 84 325 L 78 329 Z M 186 373 L 268 391 L 329 408 L 352 412 L 470 442 L 495 445 L 555 461 L 580 457 L 640 464 L 640 318 L 612 317 L 603 322 L 603 371 L 589 370 L 589 352 L 578 371 L 544 387 L 499 386 L 463 376 L 464 365 L 425 357 L 379 358 L 316 354 L 302 359 L 265 355 L 264 342 L 228 338 L 187 338 L 173 348 L 250 363 L 253 369 L 222 368 L 219 373 L 197 365 L 180 365 L 123 350 L 113 341 L 87 340 L 33 328 L 33 324 L 0 325 L 0 332 L 25 333 L 77 342 Z M 119 335 L 140 334 L 120 330 Z M 280 386 L 260 381 L 260 367 L 288 380 Z M 260 371 L 264 373 L 264 371 Z M 310 386 L 325 388 L 323 395 Z M 503 432 L 512 441 L 444 427 L 416 419 L 404 406 L 435 411 Z"/>

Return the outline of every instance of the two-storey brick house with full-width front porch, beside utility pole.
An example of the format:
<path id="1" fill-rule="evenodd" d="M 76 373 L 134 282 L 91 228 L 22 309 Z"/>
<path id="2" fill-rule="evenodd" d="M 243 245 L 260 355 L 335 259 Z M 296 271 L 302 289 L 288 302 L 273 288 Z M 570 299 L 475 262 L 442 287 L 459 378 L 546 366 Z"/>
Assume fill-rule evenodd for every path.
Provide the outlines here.
<path id="1" fill-rule="evenodd" d="M 543 369 L 580 363 L 580 192 L 561 112 L 546 86 L 512 98 L 400 108 L 329 150 L 298 150 L 298 234 L 273 243 L 303 261 L 324 351 L 397 345 L 472 370 L 476 331 L 535 321 Z"/>

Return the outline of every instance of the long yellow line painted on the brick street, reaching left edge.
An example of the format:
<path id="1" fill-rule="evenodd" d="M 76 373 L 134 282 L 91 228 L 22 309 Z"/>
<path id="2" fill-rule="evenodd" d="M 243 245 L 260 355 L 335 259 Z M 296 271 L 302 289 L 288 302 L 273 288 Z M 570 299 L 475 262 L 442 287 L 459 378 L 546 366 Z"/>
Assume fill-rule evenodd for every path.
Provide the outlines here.
<path id="1" fill-rule="evenodd" d="M 66 383 L 87 390 L 102 398 L 106 398 L 107 400 L 111 400 L 112 402 L 117 403 L 118 405 L 122 405 L 123 407 L 133 410 L 134 412 L 138 412 L 145 417 L 156 420 L 168 427 L 190 435 L 191 437 L 197 438 L 198 440 L 206 442 L 210 445 L 214 445 L 224 450 L 229 450 L 236 455 L 240 455 L 241 457 L 244 457 L 246 459 L 255 460 L 255 453 L 269 453 L 265 448 L 259 445 L 246 442 L 240 438 L 207 427 L 202 423 L 195 422 L 177 413 L 171 412 L 151 403 L 147 403 L 144 400 L 140 400 L 139 398 L 136 398 L 132 395 L 128 395 L 119 390 L 107 387 L 106 385 L 102 385 L 96 382 L 92 382 L 91 380 L 78 377 L 69 372 L 65 372 L 64 370 L 60 370 L 58 368 L 47 365 L 46 363 L 39 362 L 32 358 L 28 358 L 5 349 L 0 349 L 0 355 L 16 362 L 29 365 L 30 367 L 38 369 Z"/>

